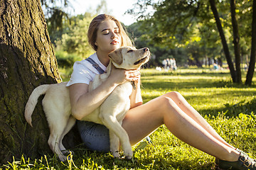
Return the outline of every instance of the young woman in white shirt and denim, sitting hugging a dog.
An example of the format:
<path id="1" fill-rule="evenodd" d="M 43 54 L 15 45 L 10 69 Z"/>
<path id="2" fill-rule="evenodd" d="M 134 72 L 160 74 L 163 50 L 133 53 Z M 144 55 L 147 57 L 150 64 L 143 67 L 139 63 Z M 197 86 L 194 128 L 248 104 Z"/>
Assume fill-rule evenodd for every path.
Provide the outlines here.
<path id="1" fill-rule="evenodd" d="M 122 46 L 132 46 L 119 21 L 106 14 L 92 20 L 87 35 L 90 45 L 96 51 L 89 58 L 103 70 L 110 61 L 110 52 Z M 139 70 L 112 69 L 104 84 L 88 92 L 88 84 L 96 74 L 99 72 L 87 60 L 75 62 L 68 86 L 73 116 L 78 120 L 99 107 L 119 84 L 125 81 L 140 81 Z M 137 86 L 130 98 L 131 108 L 123 120 L 122 127 L 127 131 L 131 145 L 164 124 L 183 142 L 216 157 L 219 169 L 233 167 L 232 169 L 256 170 L 254 160 L 225 142 L 178 92 L 170 92 L 142 104 L 141 90 Z M 78 121 L 78 129 L 88 149 L 110 151 L 109 132 L 104 125 Z"/>

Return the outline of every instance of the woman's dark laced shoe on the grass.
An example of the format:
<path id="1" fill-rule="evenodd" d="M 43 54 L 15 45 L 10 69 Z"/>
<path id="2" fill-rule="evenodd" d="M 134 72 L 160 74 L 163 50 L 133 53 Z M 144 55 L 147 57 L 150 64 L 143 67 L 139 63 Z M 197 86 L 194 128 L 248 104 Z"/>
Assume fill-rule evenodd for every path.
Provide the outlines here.
<path id="1" fill-rule="evenodd" d="M 244 154 L 240 154 L 238 161 L 227 162 L 220 159 L 215 160 L 215 170 L 256 170 L 256 162 Z"/>

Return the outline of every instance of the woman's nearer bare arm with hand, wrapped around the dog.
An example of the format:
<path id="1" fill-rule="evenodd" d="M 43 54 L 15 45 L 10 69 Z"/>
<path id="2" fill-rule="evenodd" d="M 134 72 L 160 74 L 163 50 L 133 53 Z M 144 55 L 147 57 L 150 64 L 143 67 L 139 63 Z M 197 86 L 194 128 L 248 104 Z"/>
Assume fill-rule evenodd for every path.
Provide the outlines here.
<path id="1" fill-rule="evenodd" d="M 73 116 L 78 120 L 84 118 L 99 107 L 116 86 L 132 80 L 134 80 L 134 71 L 112 67 L 110 77 L 93 91 L 88 92 L 88 84 L 71 85 L 69 91 Z"/>

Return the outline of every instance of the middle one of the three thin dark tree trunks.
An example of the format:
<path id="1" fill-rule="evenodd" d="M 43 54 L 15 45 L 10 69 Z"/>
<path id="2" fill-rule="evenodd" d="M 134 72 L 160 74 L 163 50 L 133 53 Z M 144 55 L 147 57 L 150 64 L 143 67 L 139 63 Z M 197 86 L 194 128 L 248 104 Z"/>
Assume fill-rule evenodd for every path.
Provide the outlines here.
<path id="1" fill-rule="evenodd" d="M 230 0 L 230 11 L 231 11 L 231 20 L 232 20 L 232 27 L 233 27 L 233 44 L 234 44 L 234 51 L 235 51 L 235 72 L 236 72 L 236 82 L 241 84 L 242 83 L 242 75 L 241 75 L 241 52 L 240 52 L 240 45 L 239 45 L 239 31 L 238 31 L 238 21 L 235 17 L 235 0 Z"/>

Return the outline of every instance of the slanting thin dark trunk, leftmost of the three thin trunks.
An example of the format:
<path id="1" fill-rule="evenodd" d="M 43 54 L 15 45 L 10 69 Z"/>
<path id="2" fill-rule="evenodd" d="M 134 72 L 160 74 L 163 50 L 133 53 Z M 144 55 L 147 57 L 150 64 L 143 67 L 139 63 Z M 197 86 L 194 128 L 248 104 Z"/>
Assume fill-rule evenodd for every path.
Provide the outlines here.
<path id="1" fill-rule="evenodd" d="M 214 16 L 215 21 L 216 21 L 218 32 L 220 34 L 220 39 L 221 39 L 221 42 L 222 42 L 222 45 L 223 45 L 225 58 L 228 62 L 228 67 L 230 69 L 230 74 L 231 74 L 232 80 L 233 80 L 233 82 L 237 82 L 236 75 L 235 75 L 235 68 L 234 68 L 234 65 L 233 65 L 232 58 L 230 57 L 228 44 L 227 44 L 227 41 L 225 40 L 225 35 L 224 35 L 223 28 L 222 28 L 221 23 L 220 23 L 220 17 L 218 15 L 218 11 L 217 11 L 217 8 L 216 8 L 216 5 L 215 5 L 215 0 L 209 0 L 209 1 L 210 1 L 210 8 L 213 11 L 213 16 Z"/>

